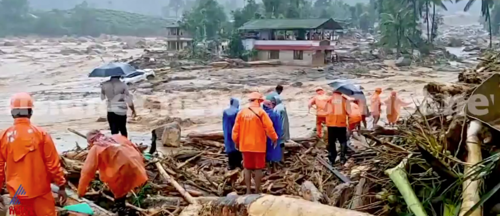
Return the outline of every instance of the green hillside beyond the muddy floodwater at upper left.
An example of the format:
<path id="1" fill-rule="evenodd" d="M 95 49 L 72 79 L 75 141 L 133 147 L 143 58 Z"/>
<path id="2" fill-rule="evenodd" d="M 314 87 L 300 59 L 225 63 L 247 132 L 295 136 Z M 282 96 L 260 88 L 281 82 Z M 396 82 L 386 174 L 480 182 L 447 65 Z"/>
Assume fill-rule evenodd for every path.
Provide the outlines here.
<path id="1" fill-rule="evenodd" d="M 26 0 L 0 0 L 0 36 L 160 35 L 165 22 L 138 13 L 91 8 L 85 1 L 69 10 L 30 11 Z"/>

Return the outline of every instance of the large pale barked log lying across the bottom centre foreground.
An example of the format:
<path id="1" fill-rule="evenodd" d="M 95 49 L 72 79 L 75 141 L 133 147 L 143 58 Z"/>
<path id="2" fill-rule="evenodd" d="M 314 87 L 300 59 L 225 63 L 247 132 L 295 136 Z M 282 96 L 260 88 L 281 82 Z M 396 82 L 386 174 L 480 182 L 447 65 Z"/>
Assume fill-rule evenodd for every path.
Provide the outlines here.
<path id="1" fill-rule="evenodd" d="M 268 194 L 230 195 L 199 205 L 189 205 L 181 216 L 373 216 L 369 213 L 311 202 L 302 198 Z"/>

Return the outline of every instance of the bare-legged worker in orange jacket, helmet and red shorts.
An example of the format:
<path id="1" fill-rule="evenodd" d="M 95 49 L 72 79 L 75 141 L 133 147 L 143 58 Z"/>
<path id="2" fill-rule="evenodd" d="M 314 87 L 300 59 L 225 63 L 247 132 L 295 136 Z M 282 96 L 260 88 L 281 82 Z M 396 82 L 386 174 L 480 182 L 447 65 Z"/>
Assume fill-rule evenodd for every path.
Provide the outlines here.
<path id="1" fill-rule="evenodd" d="M 267 113 L 260 108 L 262 94 L 251 92 L 248 95 L 249 107 L 241 109 L 232 127 L 232 140 L 243 155 L 246 194 L 251 193 L 251 173 L 255 174 L 255 192 L 260 193 L 262 169 L 265 168 L 266 136 L 277 147 L 278 136 Z"/>

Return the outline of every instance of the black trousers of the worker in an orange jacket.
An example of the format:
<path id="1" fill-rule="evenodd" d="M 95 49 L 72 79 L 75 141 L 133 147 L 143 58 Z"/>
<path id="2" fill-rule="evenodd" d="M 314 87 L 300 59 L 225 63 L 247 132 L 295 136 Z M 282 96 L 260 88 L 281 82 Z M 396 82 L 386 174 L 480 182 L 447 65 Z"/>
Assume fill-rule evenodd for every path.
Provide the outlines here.
<path id="1" fill-rule="evenodd" d="M 332 127 L 328 126 L 328 159 L 330 163 L 335 163 L 337 158 L 337 149 L 335 141 L 340 142 L 340 157 L 345 158 L 347 152 L 347 127 Z"/>

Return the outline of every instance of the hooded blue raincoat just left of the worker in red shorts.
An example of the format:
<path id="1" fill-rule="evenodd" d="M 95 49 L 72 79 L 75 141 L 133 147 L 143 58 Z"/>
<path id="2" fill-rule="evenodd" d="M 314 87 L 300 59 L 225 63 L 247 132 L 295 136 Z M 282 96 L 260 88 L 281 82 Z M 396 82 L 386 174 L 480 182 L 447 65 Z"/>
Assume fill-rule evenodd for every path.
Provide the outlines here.
<path id="1" fill-rule="evenodd" d="M 234 121 L 236 121 L 236 114 L 239 111 L 239 100 L 231 97 L 229 104 L 229 108 L 224 109 L 222 113 L 222 131 L 224 131 L 226 153 L 236 151 L 236 146 L 232 140 L 232 127 L 234 126 Z"/>

